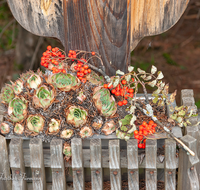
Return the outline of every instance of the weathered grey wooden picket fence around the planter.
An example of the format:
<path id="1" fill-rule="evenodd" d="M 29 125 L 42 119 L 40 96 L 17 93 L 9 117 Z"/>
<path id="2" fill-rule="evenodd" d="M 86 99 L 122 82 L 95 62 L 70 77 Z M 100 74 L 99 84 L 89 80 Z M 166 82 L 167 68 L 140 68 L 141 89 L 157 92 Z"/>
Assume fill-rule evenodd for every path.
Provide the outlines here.
<path id="1" fill-rule="evenodd" d="M 182 103 L 196 109 L 193 99 L 193 91 L 182 91 Z M 60 139 L 53 139 L 48 148 L 41 139 L 33 138 L 25 147 L 24 144 L 27 145 L 27 143 L 22 138 L 6 140 L 0 136 L 0 190 L 64 190 L 68 189 L 68 175 L 72 175 L 73 188 L 83 190 L 87 175 L 86 168 L 90 168 L 92 190 L 104 189 L 105 168 L 109 171 L 112 190 L 122 189 L 122 169 L 124 168 L 130 190 L 139 190 L 141 168 L 145 171 L 147 190 L 157 190 L 159 169 L 164 171 L 166 190 L 176 188 L 199 190 L 200 131 L 198 126 L 194 126 L 197 117 L 191 118 L 190 121 L 192 126 L 186 128 L 181 140 L 196 153 L 195 157 L 187 155 L 182 149 L 179 150 L 178 155 L 176 142 L 172 139 L 164 140 L 165 153 L 163 159 L 160 159 L 160 155 L 157 156 L 157 140 L 148 139 L 145 152 L 141 154 L 136 139 L 130 139 L 126 147 L 120 146 L 120 143 L 125 143 L 124 141 L 112 139 L 109 140 L 106 148 L 102 146 L 104 140 L 101 139 L 91 139 L 90 146 L 84 147 L 82 139 L 73 138 L 72 161 L 65 162 L 62 153 L 63 142 Z M 31 170 L 28 177 L 32 180 L 23 178 L 28 168 Z M 51 169 L 48 170 L 48 168 Z M 71 168 L 71 174 L 66 172 L 66 168 Z M 176 179 L 177 171 L 178 180 Z M 51 173 L 51 183 L 47 183 L 49 173 Z M 12 180 L 9 180 L 11 177 Z"/>

